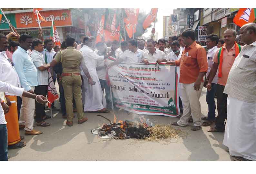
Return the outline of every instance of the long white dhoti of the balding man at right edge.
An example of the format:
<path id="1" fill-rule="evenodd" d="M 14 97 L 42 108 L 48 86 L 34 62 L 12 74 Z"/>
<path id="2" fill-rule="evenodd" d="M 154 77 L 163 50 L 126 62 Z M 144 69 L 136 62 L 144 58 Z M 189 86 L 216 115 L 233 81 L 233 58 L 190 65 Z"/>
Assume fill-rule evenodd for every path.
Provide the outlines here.
<path id="1" fill-rule="evenodd" d="M 229 95 L 227 114 L 223 144 L 229 148 L 231 156 L 256 161 L 256 103 Z"/>

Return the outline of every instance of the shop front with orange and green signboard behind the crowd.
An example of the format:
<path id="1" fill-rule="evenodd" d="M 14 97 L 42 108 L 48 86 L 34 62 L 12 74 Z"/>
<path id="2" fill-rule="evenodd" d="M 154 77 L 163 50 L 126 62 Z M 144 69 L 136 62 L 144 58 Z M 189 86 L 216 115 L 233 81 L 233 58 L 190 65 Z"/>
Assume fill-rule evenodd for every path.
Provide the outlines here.
<path id="1" fill-rule="evenodd" d="M 50 37 L 52 19 L 59 33 L 60 41 L 66 38 L 66 28 L 73 26 L 70 10 L 50 10 L 40 11 L 46 22 L 39 21 L 44 33 L 44 39 Z M 16 28 L 19 34 L 30 34 L 38 37 L 38 20 L 34 17 L 33 12 L 5 14 L 9 22 Z M 7 35 L 10 32 L 8 22 L 2 18 L 0 20 L 0 33 Z M 15 40 L 15 38 L 12 38 Z"/>

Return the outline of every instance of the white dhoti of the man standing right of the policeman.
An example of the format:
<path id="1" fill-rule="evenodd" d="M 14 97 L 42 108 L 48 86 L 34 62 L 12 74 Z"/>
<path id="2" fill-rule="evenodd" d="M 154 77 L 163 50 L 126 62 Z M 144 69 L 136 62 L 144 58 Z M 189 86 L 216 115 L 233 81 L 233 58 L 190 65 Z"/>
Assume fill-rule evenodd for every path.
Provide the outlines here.
<path id="1" fill-rule="evenodd" d="M 91 74 L 95 85 L 90 85 L 86 76 L 83 77 L 82 100 L 84 104 L 84 112 L 97 111 L 106 108 L 106 99 L 101 89 L 100 80 L 97 75 Z"/>

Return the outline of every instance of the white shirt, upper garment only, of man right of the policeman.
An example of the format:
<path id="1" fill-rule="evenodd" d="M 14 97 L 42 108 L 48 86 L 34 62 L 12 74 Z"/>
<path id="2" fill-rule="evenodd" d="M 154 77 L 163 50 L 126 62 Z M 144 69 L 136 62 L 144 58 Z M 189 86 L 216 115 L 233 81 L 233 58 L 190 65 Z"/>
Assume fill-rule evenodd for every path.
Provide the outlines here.
<path id="1" fill-rule="evenodd" d="M 81 48 L 80 51 L 82 51 L 82 54 L 83 54 L 83 57 L 84 57 L 84 59 L 82 59 L 81 64 L 86 65 L 89 74 L 97 75 L 96 60 L 100 59 L 100 60 L 103 61 L 104 56 L 99 56 L 99 55 L 95 54 L 94 51 L 86 45 L 84 45 L 84 47 Z"/>

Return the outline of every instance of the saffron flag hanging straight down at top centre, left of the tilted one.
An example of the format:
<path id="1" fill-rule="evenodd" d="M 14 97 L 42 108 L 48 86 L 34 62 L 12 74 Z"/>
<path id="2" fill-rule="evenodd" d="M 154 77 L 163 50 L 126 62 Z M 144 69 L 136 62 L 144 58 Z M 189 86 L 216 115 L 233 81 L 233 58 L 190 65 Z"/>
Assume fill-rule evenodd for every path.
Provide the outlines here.
<path id="1" fill-rule="evenodd" d="M 133 37 L 133 33 L 136 32 L 136 26 L 138 23 L 139 8 L 126 8 L 126 17 L 123 19 L 125 22 L 125 29 L 129 38 Z"/>

